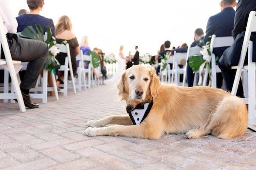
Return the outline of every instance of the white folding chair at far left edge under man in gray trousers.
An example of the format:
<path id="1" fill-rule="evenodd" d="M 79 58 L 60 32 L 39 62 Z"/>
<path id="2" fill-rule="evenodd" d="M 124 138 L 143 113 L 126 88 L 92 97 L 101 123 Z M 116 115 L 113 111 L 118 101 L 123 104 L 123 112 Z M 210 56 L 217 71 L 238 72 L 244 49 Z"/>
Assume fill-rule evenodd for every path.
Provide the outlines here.
<path id="1" fill-rule="evenodd" d="M 1 56 L 0 56 L 0 66 L 10 72 L 10 75 L 12 78 L 12 83 L 13 83 L 13 88 L 15 91 L 15 93 L 12 93 L 12 94 L 9 94 L 8 92 L 0 94 L 0 99 L 17 99 L 19 107 L 20 107 L 20 111 L 25 112 L 26 108 L 24 105 L 23 97 L 22 97 L 22 94 L 20 91 L 20 85 L 19 85 L 18 78 L 17 78 L 17 73 L 22 68 L 22 65 L 21 65 L 20 61 L 12 60 L 12 56 L 11 56 L 11 53 L 9 50 L 9 45 L 8 45 L 8 42 L 6 39 L 6 35 L 4 34 L 4 25 L 3 25 L 3 19 L 1 16 L 0 16 L 0 44 L 2 44 L 3 52 L 5 54 L 5 59 L 1 59 Z"/>

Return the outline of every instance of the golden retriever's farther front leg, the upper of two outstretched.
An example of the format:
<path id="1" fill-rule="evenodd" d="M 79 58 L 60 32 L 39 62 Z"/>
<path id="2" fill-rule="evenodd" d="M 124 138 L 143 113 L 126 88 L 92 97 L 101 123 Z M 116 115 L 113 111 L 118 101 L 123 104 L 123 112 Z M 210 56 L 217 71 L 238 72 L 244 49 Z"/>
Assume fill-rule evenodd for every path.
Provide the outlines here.
<path id="1" fill-rule="evenodd" d="M 129 115 L 108 116 L 99 120 L 90 120 L 86 123 L 86 127 L 104 127 L 109 124 L 133 125 Z"/>

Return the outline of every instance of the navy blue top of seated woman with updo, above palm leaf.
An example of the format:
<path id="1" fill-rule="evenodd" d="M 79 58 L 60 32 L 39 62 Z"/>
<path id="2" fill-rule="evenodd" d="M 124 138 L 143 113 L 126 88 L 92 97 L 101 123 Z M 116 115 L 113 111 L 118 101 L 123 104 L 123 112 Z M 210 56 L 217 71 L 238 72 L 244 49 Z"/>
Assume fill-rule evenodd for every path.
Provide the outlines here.
<path id="1" fill-rule="evenodd" d="M 52 36 L 55 37 L 55 28 L 53 24 L 53 20 L 43 17 L 38 14 L 22 14 L 16 17 L 18 22 L 17 32 L 23 31 L 27 26 L 32 26 L 35 29 L 35 24 L 41 25 L 43 31 L 46 31 L 46 26 L 49 26 L 52 31 Z"/>

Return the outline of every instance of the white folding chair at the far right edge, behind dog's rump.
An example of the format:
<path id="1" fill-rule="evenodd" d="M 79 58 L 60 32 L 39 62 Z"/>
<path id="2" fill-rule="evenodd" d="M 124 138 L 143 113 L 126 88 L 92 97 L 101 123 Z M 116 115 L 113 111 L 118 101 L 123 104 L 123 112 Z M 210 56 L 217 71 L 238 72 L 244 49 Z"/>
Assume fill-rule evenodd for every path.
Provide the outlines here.
<path id="1" fill-rule="evenodd" d="M 253 62 L 253 48 L 256 47 L 253 47 L 253 42 L 250 41 L 252 32 L 256 32 L 256 11 L 251 11 L 248 17 L 239 64 L 238 66 L 232 67 L 233 69 L 237 69 L 237 71 L 231 94 L 236 95 L 241 73 L 243 70 L 248 70 L 248 98 L 245 98 L 244 102 L 248 104 L 248 124 L 256 125 L 256 62 Z M 247 49 L 248 65 L 244 65 Z"/>

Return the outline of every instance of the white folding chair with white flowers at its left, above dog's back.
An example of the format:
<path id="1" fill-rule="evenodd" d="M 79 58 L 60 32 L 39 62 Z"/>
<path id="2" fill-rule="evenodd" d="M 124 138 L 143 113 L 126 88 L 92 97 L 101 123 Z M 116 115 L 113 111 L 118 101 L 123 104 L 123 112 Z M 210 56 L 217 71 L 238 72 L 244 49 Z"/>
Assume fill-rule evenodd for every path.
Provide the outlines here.
<path id="1" fill-rule="evenodd" d="M 230 47 L 234 42 L 233 37 L 216 37 L 216 35 L 212 35 L 211 44 L 210 44 L 210 51 L 212 54 L 213 48 L 220 48 L 220 47 Z M 217 73 L 221 73 L 221 69 L 216 65 L 215 55 L 211 56 L 211 65 L 212 65 L 212 81 L 211 86 L 213 88 L 217 88 Z M 221 56 L 218 56 L 221 57 Z M 203 85 L 205 86 L 207 83 L 208 78 L 208 70 L 205 69 Z"/>

